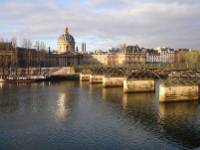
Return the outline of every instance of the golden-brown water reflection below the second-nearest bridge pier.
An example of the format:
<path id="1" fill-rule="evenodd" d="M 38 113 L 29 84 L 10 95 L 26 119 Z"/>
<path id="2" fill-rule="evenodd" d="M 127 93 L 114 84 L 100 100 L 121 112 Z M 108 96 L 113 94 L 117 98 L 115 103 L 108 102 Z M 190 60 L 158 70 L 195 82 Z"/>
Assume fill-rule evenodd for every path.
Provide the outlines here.
<path id="1" fill-rule="evenodd" d="M 157 109 L 154 93 L 124 94 L 122 106 L 127 119 L 140 125 L 145 131 L 156 133 Z"/>

